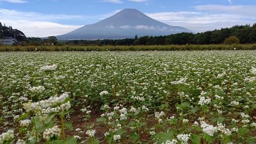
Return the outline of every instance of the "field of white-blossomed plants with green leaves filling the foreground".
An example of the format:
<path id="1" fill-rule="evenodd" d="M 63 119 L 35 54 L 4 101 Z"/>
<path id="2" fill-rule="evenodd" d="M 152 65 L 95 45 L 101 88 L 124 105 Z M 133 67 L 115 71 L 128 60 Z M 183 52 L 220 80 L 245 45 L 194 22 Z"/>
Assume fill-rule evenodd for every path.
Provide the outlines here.
<path id="1" fill-rule="evenodd" d="M 1 52 L 0 143 L 255 143 L 256 51 Z"/>

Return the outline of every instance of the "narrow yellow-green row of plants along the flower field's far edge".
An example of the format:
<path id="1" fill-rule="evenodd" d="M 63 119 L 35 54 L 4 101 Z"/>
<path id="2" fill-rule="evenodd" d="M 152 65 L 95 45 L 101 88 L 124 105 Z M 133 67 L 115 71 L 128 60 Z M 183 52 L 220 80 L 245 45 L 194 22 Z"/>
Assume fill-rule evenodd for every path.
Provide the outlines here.
<path id="1" fill-rule="evenodd" d="M 105 46 L 20 46 L 0 45 L 0 51 L 194 51 L 194 50 L 256 50 L 255 44 L 236 45 L 105 45 Z"/>

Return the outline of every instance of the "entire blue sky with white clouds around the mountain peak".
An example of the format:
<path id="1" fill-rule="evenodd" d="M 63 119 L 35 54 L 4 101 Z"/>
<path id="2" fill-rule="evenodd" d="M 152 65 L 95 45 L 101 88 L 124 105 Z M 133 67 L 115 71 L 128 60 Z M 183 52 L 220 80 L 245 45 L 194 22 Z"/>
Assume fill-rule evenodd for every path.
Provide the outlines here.
<path id="1" fill-rule="evenodd" d="M 126 8 L 194 33 L 256 23 L 255 0 L 0 0 L 0 22 L 27 37 L 47 37 L 96 23 Z"/>

